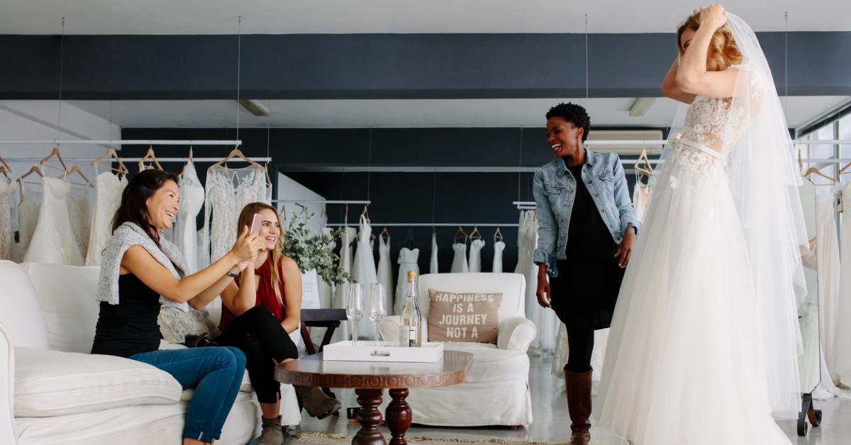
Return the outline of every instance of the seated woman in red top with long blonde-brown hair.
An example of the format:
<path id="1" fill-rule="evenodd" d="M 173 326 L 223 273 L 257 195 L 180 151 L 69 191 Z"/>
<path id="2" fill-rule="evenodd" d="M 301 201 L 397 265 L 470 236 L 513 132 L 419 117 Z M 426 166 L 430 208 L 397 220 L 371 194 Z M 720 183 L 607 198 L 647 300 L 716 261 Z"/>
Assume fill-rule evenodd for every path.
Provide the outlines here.
<path id="1" fill-rule="evenodd" d="M 275 364 L 298 358 L 289 334 L 300 327 L 301 272 L 282 254 L 283 237 L 277 210 L 266 203 L 250 203 L 239 214 L 237 227 L 251 226 L 260 214 L 263 248 L 221 293 L 222 334 L 219 345 L 237 346 L 248 358 L 246 368 L 263 412 L 263 435 L 258 445 L 283 442 L 280 385 Z M 340 402 L 316 387 L 295 386 L 307 413 L 323 419 L 340 410 Z M 280 436 L 280 439 L 278 439 Z"/>

